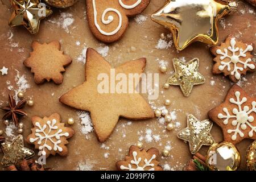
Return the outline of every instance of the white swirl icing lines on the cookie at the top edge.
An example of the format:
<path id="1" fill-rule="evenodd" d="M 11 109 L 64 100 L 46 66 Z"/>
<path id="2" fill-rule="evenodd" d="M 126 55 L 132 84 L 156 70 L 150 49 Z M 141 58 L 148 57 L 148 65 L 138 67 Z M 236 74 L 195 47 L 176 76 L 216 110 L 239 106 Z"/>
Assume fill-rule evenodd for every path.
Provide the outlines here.
<path id="1" fill-rule="evenodd" d="M 107 9 L 105 9 L 102 13 L 102 16 L 101 16 L 101 22 L 104 23 L 104 24 L 109 24 L 111 22 L 113 22 L 114 20 L 114 17 L 112 15 L 109 15 L 108 16 L 108 19 L 105 20 L 105 15 L 106 13 L 110 12 L 110 11 L 113 11 L 115 12 L 117 15 L 118 15 L 118 18 L 119 18 L 119 23 L 118 23 L 118 26 L 117 28 L 115 28 L 115 30 L 113 30 L 112 32 L 105 32 L 104 30 L 101 29 L 100 25 L 98 24 L 97 22 L 97 10 L 96 10 L 96 0 L 92 0 L 92 3 L 93 3 L 93 15 L 94 15 L 94 24 L 96 26 L 96 28 L 98 29 L 98 31 L 101 32 L 101 34 L 103 35 L 107 35 L 107 36 L 110 36 L 110 35 L 114 35 L 116 34 L 121 26 L 122 26 L 122 15 L 121 13 L 117 10 L 117 9 L 113 9 L 111 7 L 108 7 Z M 141 3 L 142 0 L 138 0 L 137 2 L 135 2 L 133 5 L 125 5 L 123 4 L 122 0 L 119 0 L 119 4 L 125 8 L 125 9 L 133 9 L 134 7 L 138 6 L 139 3 Z"/>

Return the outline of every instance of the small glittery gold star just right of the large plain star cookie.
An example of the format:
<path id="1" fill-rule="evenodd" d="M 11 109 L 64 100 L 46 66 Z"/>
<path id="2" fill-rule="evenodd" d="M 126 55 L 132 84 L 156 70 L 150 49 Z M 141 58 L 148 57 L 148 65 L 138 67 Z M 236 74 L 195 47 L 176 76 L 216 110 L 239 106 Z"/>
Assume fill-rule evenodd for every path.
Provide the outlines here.
<path id="1" fill-rule="evenodd" d="M 174 59 L 175 73 L 168 78 L 166 84 L 179 85 L 184 96 L 188 97 L 192 91 L 193 85 L 200 85 L 205 82 L 205 78 L 199 69 L 199 59 L 194 58 L 187 63 L 179 59 Z"/>

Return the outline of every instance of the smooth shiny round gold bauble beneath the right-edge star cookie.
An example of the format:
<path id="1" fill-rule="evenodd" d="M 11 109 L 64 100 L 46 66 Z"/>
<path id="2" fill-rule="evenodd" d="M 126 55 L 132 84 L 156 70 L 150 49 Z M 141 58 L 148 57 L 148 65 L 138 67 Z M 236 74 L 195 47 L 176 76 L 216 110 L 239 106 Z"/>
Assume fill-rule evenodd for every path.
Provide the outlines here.
<path id="1" fill-rule="evenodd" d="M 214 143 L 209 147 L 205 163 L 212 171 L 236 171 L 241 163 L 241 155 L 230 142 Z"/>

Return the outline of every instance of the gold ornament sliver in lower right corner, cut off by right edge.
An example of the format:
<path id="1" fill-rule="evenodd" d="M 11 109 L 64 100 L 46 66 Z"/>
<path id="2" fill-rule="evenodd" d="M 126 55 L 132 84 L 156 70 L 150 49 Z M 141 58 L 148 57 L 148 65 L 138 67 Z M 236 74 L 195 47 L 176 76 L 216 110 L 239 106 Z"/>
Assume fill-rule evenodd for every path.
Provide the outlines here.
<path id="1" fill-rule="evenodd" d="M 246 166 L 249 171 L 256 171 L 256 140 L 246 151 Z"/>

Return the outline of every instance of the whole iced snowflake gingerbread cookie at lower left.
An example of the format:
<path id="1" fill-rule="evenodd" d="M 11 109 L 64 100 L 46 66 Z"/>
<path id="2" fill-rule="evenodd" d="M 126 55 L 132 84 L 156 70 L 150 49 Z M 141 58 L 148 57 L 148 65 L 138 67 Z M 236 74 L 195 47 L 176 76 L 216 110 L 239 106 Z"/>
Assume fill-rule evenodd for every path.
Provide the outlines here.
<path id="1" fill-rule="evenodd" d="M 32 133 L 28 135 L 27 142 L 34 144 L 39 149 L 40 154 L 46 158 L 50 154 L 56 153 L 61 156 L 68 155 L 67 139 L 71 138 L 75 131 L 69 127 L 65 127 L 60 121 L 60 115 L 55 113 L 49 117 L 32 117 L 34 127 Z"/>

